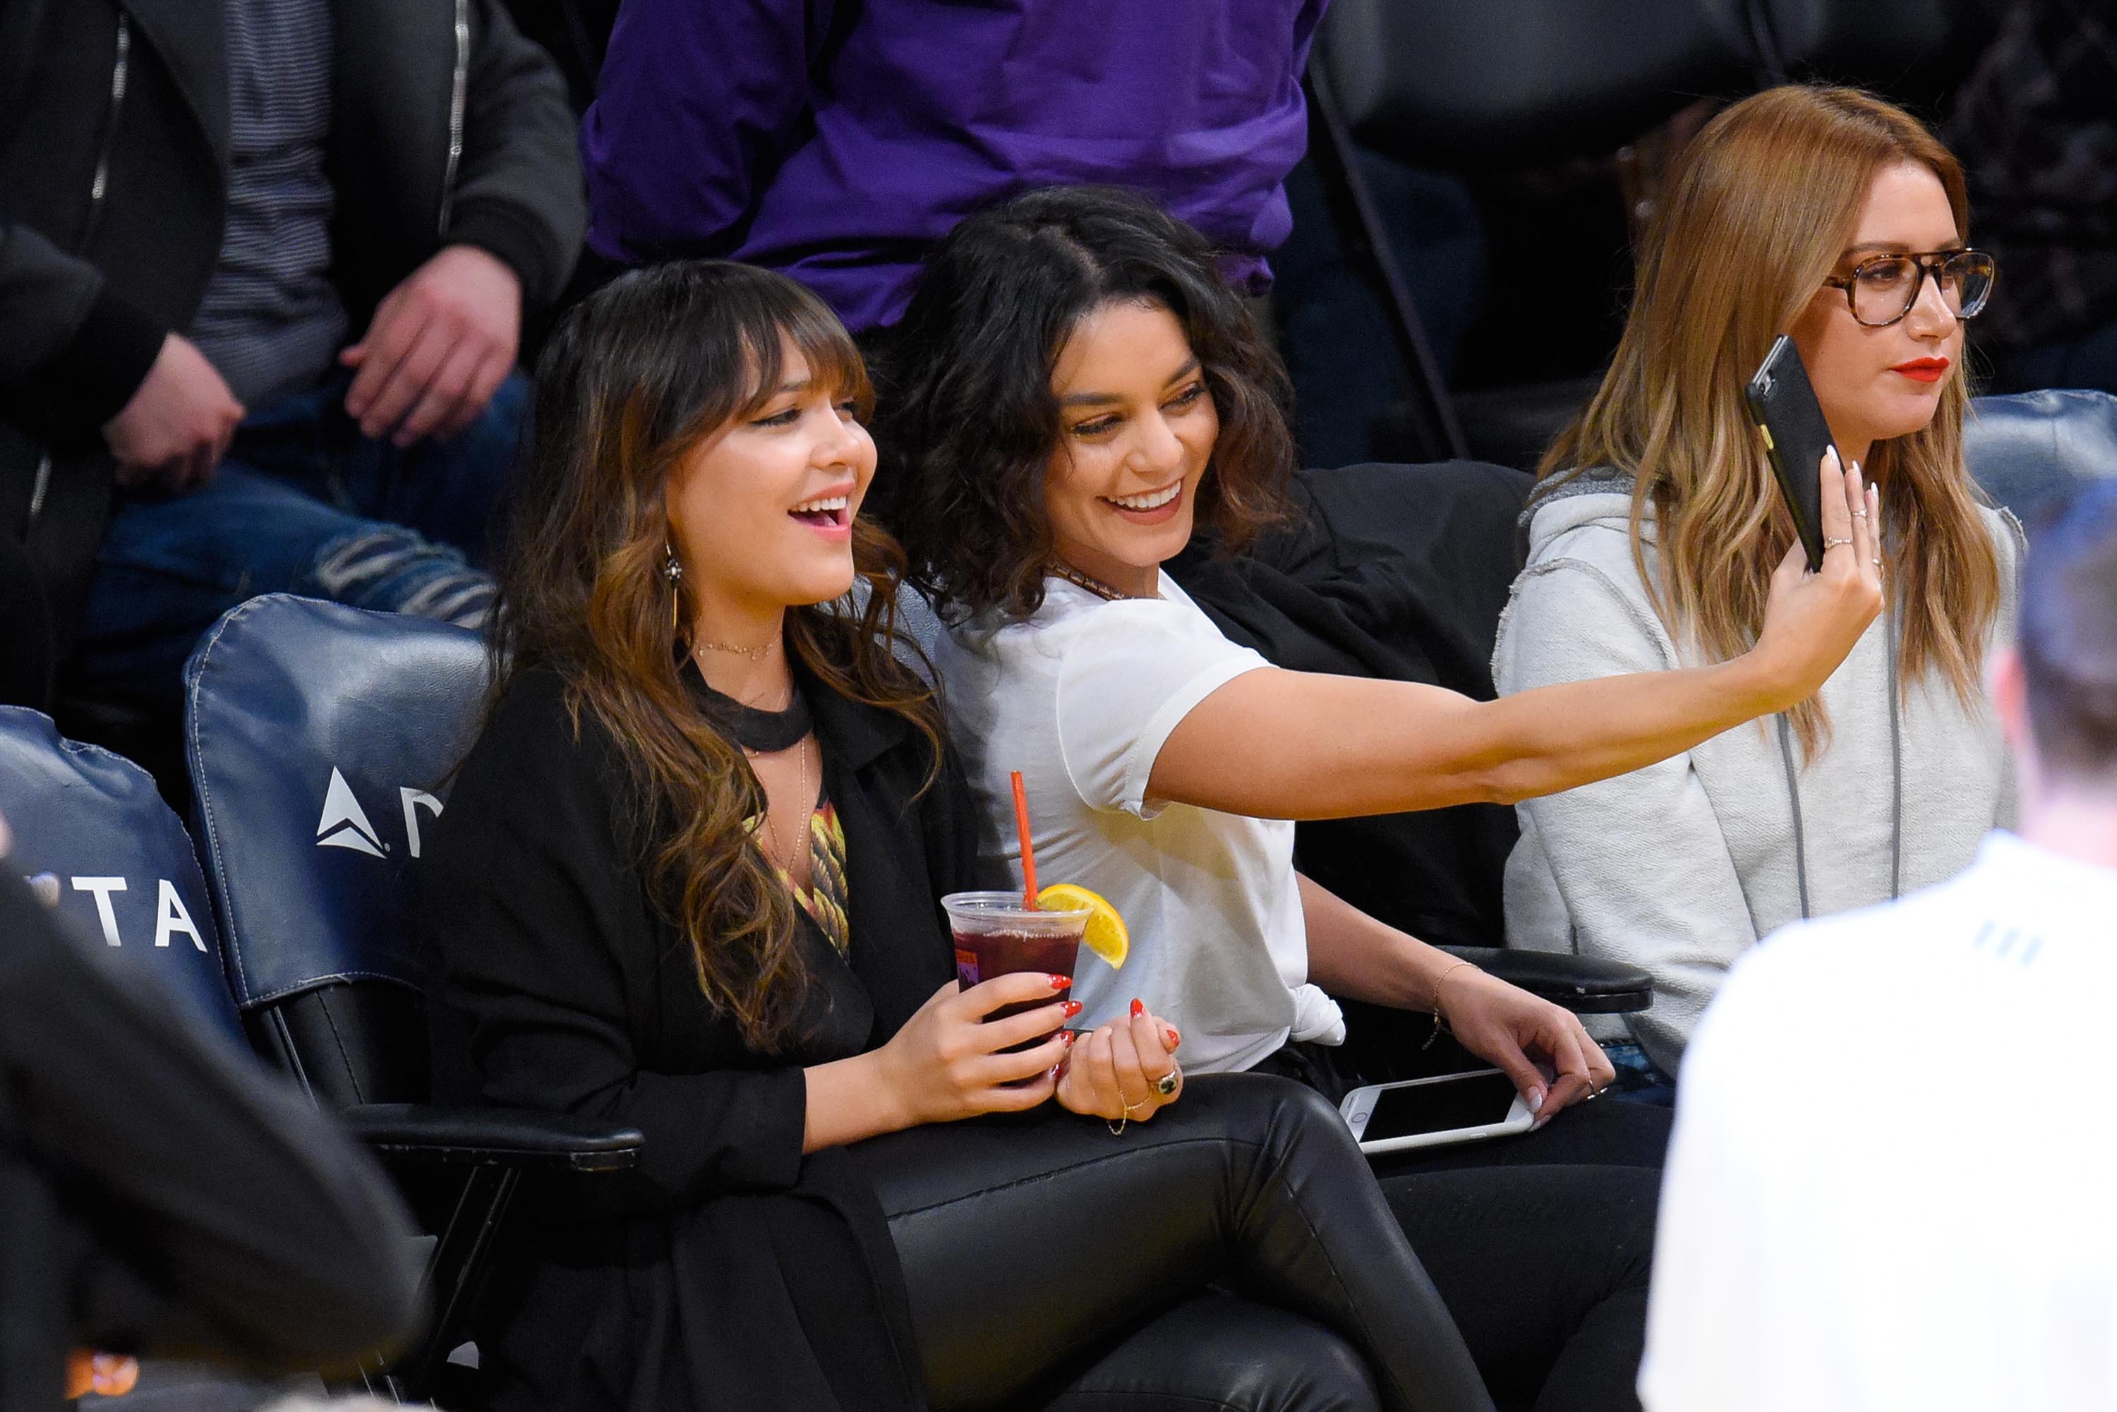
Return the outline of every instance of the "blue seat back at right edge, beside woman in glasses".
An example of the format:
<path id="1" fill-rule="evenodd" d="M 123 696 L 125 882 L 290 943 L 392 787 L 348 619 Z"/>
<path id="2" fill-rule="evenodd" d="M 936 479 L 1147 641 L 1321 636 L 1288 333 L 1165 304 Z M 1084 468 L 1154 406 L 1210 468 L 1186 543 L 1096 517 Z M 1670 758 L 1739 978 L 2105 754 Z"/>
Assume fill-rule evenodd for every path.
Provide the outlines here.
<path id="1" fill-rule="evenodd" d="M 1973 398 L 1962 461 L 1992 500 L 2034 525 L 2081 481 L 2117 476 L 2117 396 L 2049 390 Z"/>

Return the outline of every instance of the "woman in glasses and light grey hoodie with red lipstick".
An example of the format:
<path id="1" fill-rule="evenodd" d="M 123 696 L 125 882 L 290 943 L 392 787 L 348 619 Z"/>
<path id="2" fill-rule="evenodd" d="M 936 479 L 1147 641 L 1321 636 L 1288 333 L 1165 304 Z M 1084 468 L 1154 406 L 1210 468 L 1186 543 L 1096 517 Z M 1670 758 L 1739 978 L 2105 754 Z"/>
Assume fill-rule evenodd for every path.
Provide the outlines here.
<path id="1" fill-rule="evenodd" d="M 1962 324 L 1992 292 L 1962 169 L 1910 114 L 1783 87 L 1719 114 L 1649 233 L 1588 411 L 1543 459 L 1501 692 L 1730 658 L 1793 542 L 1742 383 L 1793 337 L 1831 436 L 1880 489 L 1884 614 L 1823 690 L 1660 764 L 1518 807 L 1514 944 L 1655 976 L 1611 1046 L 1666 1092 L 1744 946 L 1937 883 L 2007 821 L 1979 671 L 2013 618 L 2020 525 L 1962 466 Z"/>

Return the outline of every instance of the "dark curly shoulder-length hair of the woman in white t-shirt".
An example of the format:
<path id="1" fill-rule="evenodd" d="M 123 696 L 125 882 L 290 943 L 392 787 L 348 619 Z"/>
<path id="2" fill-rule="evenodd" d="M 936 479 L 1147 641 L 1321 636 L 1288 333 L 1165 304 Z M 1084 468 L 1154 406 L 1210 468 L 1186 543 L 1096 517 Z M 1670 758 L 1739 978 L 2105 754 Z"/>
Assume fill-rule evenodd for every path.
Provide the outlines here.
<path id="1" fill-rule="evenodd" d="M 1213 246 L 1124 191 L 1035 191 L 934 250 L 876 358 L 881 514 L 944 618 L 1027 618 L 1044 603 L 1044 476 L 1063 430 L 1052 368 L 1075 324 L 1111 301 L 1169 309 L 1198 356 L 1219 413 L 1198 529 L 1234 553 L 1285 514 L 1287 375 Z"/>

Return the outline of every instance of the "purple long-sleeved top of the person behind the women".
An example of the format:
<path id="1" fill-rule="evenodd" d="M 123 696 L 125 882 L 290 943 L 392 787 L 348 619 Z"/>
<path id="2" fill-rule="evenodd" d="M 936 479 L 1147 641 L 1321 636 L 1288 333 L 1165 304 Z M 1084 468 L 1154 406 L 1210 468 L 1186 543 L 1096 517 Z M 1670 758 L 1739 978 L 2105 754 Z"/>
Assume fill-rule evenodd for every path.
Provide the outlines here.
<path id="1" fill-rule="evenodd" d="M 1327 0 L 625 0 L 582 125 L 589 243 L 781 269 L 860 330 L 1037 186 L 1130 186 L 1262 290 Z M 838 30 L 832 30 L 836 21 Z"/>

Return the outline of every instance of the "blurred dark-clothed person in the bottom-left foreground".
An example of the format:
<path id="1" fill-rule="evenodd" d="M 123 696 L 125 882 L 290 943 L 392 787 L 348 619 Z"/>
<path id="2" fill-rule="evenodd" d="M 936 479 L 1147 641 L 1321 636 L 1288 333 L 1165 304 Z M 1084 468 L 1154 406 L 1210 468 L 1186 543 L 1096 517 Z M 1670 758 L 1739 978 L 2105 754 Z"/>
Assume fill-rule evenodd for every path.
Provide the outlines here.
<path id="1" fill-rule="evenodd" d="M 0 819 L 0 1408 L 125 1391 L 127 1353 L 349 1370 L 402 1340 L 419 1266 L 387 1179 L 8 847 Z"/>

